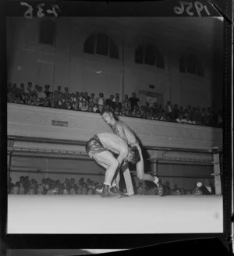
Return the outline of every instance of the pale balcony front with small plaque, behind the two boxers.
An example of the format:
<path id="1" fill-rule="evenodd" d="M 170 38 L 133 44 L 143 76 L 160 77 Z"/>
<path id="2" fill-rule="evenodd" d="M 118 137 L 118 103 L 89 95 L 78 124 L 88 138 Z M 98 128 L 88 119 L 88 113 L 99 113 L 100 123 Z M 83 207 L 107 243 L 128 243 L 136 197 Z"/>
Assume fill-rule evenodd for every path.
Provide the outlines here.
<path id="1" fill-rule="evenodd" d="M 14 149 L 87 158 L 83 145 L 96 133 L 112 132 L 97 113 L 8 104 L 8 137 Z M 211 162 L 211 150 L 222 149 L 222 129 L 121 116 L 151 159 L 200 159 Z M 166 159 L 165 158 L 165 159 Z"/>

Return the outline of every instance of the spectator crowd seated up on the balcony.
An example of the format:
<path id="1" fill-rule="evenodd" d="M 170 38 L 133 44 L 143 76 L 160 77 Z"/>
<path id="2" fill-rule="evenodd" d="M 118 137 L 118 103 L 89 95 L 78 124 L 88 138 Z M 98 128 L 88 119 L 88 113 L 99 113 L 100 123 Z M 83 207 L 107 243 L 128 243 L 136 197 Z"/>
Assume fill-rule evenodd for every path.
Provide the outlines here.
<path id="1" fill-rule="evenodd" d="M 7 101 L 24 104 L 35 105 L 48 108 L 62 108 L 75 111 L 101 113 L 104 109 L 111 109 L 115 116 L 129 116 L 142 119 L 154 119 L 176 123 L 188 123 L 200 126 L 222 127 L 222 112 L 215 111 L 214 108 L 191 106 L 186 108 L 167 101 L 165 106 L 158 105 L 154 102 L 150 105 L 140 105 L 140 100 L 136 93 L 133 92 L 131 97 L 125 94 L 121 101 L 119 93 L 111 94 L 109 98 L 105 98 L 103 93 L 88 94 L 87 91 L 69 92 L 69 88 L 58 86 L 54 92 L 50 91 L 50 85 L 43 87 L 31 82 L 21 83 L 20 87 L 16 83 L 8 84 Z"/>

